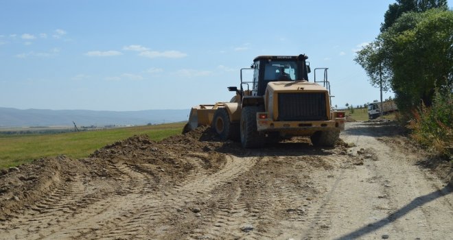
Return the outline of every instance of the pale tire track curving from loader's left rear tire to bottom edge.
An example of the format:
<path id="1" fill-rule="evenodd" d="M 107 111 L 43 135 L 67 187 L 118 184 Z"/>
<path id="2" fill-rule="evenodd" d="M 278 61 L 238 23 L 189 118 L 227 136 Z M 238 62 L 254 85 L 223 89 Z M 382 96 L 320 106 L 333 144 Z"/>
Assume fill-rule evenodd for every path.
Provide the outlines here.
<path id="1" fill-rule="evenodd" d="M 189 161 L 200 163 L 199 159 L 191 159 Z M 184 184 L 159 189 L 155 194 L 126 195 L 118 199 L 118 202 L 110 200 L 109 202 L 113 206 L 120 207 L 108 209 L 108 213 L 91 217 L 91 222 L 95 222 L 99 228 L 91 228 L 91 231 L 83 232 L 78 237 L 88 239 L 165 239 L 167 221 L 172 219 L 173 215 L 177 213 L 177 209 L 187 208 L 191 202 L 207 195 L 212 189 L 226 184 L 239 173 L 247 171 L 255 162 L 256 160 L 251 159 L 248 167 L 244 167 L 243 159 L 227 156 L 227 163 L 222 169 L 210 175 L 205 171 L 193 171 L 185 179 Z M 85 229 L 85 227 L 80 229 Z"/>

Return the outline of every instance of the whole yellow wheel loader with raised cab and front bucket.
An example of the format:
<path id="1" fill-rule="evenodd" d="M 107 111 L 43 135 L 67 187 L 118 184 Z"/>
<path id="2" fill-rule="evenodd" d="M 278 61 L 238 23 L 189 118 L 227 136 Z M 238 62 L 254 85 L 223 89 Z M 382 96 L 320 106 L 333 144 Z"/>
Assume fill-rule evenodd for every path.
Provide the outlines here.
<path id="1" fill-rule="evenodd" d="M 345 129 L 345 112 L 331 106 L 327 68 L 314 69 L 308 81 L 307 56 L 258 56 L 251 68 L 241 69 L 240 87 L 230 102 L 191 108 L 183 132 L 211 125 L 220 139 L 241 141 L 243 147 L 262 147 L 281 137 L 310 136 L 315 146 L 334 146 Z M 253 71 L 253 79 L 242 79 Z M 316 71 L 323 73 L 316 80 Z"/>

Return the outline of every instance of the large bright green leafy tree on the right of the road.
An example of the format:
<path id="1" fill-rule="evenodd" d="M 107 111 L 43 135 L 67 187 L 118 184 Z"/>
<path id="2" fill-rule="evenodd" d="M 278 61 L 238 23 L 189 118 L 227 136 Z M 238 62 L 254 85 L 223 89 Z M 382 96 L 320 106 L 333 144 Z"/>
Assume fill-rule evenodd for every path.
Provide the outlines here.
<path id="1" fill-rule="evenodd" d="M 410 1 L 398 4 L 403 2 Z M 413 2 L 417 11 L 444 4 Z M 358 51 L 354 60 L 365 69 L 373 86 L 382 79 L 384 88 L 392 88 L 399 110 L 410 112 L 420 101 L 430 106 L 434 88 L 440 93 L 452 92 L 453 12 L 444 8 L 406 12 Z"/>

